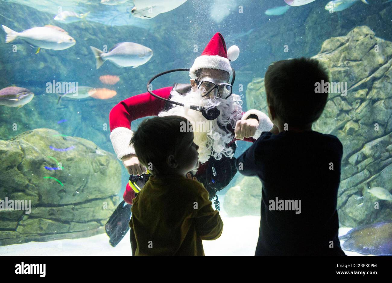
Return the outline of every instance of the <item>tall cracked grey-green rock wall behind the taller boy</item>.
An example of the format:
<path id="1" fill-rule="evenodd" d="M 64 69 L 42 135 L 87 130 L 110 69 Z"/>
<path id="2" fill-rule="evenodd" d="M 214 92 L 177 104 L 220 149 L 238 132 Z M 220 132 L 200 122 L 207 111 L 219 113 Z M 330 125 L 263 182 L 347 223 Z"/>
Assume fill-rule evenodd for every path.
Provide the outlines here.
<path id="1" fill-rule="evenodd" d="M 332 82 L 347 83 L 346 96 L 330 93 L 313 130 L 332 134 L 343 144 L 341 183 L 338 192 L 339 221 L 356 227 L 392 218 L 392 201 L 378 200 L 366 189 L 392 184 L 392 42 L 375 36 L 367 26 L 358 26 L 346 36 L 333 37 L 313 56 L 327 66 Z M 246 90 L 247 109 L 267 112 L 264 78 L 255 78 Z M 248 178 L 248 177 L 245 177 Z M 251 207 L 252 196 L 235 207 L 245 189 L 229 189 L 225 210 L 239 216 L 241 208 L 260 215 L 260 203 Z M 255 198 L 261 194 L 261 185 Z M 233 198 L 233 199 L 232 199 Z M 250 200 L 252 199 L 252 200 Z M 241 206 L 240 208 L 238 206 Z"/>

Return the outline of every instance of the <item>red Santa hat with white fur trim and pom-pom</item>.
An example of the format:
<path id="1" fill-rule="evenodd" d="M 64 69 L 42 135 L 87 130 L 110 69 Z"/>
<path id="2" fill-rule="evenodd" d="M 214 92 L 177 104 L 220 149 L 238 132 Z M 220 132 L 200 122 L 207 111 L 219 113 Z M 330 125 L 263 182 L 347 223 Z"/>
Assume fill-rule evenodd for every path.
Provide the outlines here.
<path id="1" fill-rule="evenodd" d="M 189 70 L 189 76 L 192 79 L 196 78 L 195 71 L 201 68 L 227 71 L 231 76 L 233 73 L 230 61 L 236 60 L 239 54 L 240 49 L 237 45 L 232 45 L 227 50 L 222 34 L 216 33 L 201 53 L 201 56 L 194 61 Z"/>

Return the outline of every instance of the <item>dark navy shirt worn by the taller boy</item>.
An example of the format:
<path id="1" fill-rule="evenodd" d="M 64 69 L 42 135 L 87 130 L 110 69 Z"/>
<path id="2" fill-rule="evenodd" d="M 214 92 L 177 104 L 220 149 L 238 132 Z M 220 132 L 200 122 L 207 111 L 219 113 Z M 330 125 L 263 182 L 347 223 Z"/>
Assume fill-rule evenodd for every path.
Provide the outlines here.
<path id="1" fill-rule="evenodd" d="M 336 210 L 342 155 L 336 136 L 283 131 L 262 132 L 237 159 L 238 172 L 263 185 L 256 255 L 345 255 Z"/>

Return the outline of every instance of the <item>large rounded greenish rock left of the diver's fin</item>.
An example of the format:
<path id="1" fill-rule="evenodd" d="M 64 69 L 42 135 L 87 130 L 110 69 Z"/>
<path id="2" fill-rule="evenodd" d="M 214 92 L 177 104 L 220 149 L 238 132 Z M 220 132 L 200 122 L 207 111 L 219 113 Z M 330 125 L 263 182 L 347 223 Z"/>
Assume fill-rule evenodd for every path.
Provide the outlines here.
<path id="1" fill-rule="evenodd" d="M 31 200 L 30 213 L 0 210 L 0 245 L 105 233 L 120 174 L 113 154 L 51 129 L 0 140 L 0 200 Z"/>

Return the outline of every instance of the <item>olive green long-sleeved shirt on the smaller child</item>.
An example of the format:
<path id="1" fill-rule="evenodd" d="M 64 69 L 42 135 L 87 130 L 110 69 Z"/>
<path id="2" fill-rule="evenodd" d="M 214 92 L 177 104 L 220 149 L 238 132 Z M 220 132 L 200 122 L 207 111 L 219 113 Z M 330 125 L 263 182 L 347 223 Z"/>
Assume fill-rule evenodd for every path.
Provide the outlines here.
<path id="1" fill-rule="evenodd" d="M 150 176 L 131 210 L 136 256 L 203 256 L 201 240 L 217 239 L 223 230 L 204 185 L 185 176 Z"/>

